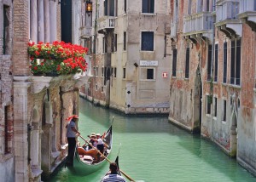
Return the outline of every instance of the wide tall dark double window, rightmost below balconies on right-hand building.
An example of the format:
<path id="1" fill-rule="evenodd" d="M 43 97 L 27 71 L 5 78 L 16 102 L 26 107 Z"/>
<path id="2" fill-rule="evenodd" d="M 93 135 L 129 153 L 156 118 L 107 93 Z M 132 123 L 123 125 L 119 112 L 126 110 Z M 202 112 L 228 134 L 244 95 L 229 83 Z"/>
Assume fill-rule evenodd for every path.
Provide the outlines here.
<path id="1" fill-rule="evenodd" d="M 231 42 L 230 84 L 240 85 L 241 40 Z"/>

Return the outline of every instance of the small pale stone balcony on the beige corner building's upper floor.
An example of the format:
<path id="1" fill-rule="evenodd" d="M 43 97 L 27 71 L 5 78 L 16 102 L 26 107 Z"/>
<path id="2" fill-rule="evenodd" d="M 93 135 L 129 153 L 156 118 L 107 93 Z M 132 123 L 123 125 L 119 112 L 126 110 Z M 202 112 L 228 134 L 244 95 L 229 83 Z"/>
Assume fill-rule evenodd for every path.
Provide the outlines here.
<path id="1" fill-rule="evenodd" d="M 98 33 L 105 34 L 107 31 L 112 31 L 114 29 L 114 19 L 113 16 L 102 16 L 97 20 L 97 31 Z"/>

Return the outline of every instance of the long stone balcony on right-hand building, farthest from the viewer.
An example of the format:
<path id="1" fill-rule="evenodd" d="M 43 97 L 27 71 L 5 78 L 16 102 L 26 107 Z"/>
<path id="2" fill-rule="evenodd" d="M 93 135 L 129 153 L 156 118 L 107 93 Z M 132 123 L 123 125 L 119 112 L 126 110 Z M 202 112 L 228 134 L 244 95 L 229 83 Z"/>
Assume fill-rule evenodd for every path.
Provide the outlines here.
<path id="1" fill-rule="evenodd" d="M 184 17 L 184 36 L 207 37 L 212 40 L 213 17 L 210 12 L 201 12 Z"/>

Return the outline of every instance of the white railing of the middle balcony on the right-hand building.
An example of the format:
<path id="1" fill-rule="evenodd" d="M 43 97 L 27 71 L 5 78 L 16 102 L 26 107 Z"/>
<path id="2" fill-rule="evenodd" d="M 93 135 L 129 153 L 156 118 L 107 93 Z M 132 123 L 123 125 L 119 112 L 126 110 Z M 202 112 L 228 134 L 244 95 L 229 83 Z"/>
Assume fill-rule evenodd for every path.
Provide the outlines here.
<path id="1" fill-rule="evenodd" d="M 218 3 L 220 2 L 220 3 Z M 218 1 L 216 8 L 216 22 L 224 20 L 237 20 L 239 14 L 239 2 L 237 1 Z"/>

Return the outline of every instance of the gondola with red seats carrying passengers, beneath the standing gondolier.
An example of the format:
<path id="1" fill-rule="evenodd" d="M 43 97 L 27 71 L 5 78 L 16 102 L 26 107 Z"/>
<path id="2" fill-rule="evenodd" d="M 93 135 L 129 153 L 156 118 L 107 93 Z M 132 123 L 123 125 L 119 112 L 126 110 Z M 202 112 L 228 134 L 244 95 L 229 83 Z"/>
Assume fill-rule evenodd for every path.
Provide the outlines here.
<path id="1" fill-rule="evenodd" d="M 81 138 L 84 139 L 82 136 Z M 102 166 L 107 162 L 106 159 L 108 159 L 107 157 L 109 156 L 112 150 L 112 139 L 113 135 L 111 125 L 110 128 L 108 128 L 108 131 L 106 132 L 104 139 L 102 139 L 108 147 L 105 147 L 104 152 L 98 155 L 100 157 L 97 161 L 89 155 L 79 155 L 80 151 L 77 147 L 73 160 L 73 171 L 81 175 L 87 175 L 89 173 L 95 172 L 99 168 L 102 168 Z"/>

